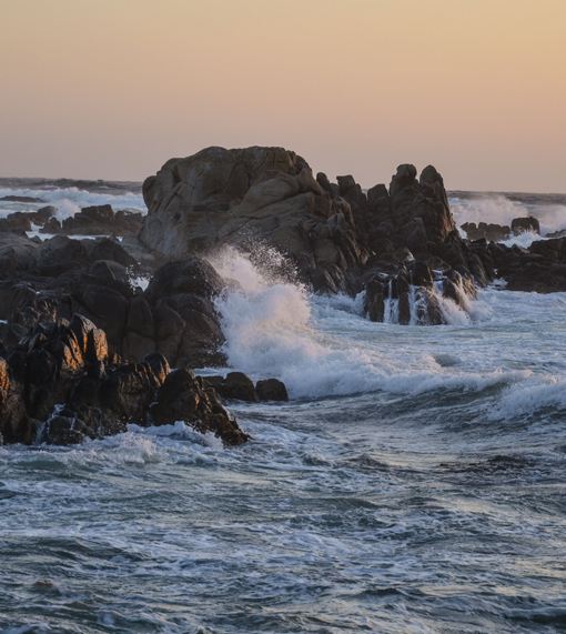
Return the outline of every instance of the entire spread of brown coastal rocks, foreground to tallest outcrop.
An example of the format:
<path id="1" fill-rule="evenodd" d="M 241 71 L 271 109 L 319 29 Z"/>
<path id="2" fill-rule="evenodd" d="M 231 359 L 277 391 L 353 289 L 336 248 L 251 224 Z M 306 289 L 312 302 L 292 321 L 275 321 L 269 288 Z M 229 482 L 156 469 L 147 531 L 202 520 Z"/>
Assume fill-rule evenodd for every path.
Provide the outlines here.
<path id="1" fill-rule="evenodd" d="M 566 291 L 566 238 L 497 243 L 539 232 L 526 218 L 468 223 L 464 240 L 431 165 L 418 178 L 400 165 L 388 187 L 364 192 L 351 175 L 314 177 L 282 148 L 209 148 L 168 161 L 143 195 L 143 220 L 110 205 L 62 224 L 49 207 L 0 220 L 2 442 L 69 444 L 178 420 L 245 442 L 220 399 L 289 396 L 275 379 L 193 374 L 225 364 L 215 300 L 236 283 L 199 258 L 223 245 L 252 256 L 257 244 L 274 245 L 315 292 L 365 290 L 374 321 L 444 323 L 445 300 L 465 306 L 495 278 L 511 290 Z M 58 235 L 29 239 L 32 224 Z M 144 291 L 132 274 L 151 278 Z"/>

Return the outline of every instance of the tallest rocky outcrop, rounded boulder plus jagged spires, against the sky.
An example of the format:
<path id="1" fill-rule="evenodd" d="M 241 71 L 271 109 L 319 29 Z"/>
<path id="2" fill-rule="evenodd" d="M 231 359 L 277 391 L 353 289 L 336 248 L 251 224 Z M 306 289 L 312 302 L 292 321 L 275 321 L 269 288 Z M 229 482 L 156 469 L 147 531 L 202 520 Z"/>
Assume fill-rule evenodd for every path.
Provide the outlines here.
<path id="1" fill-rule="evenodd" d="M 388 189 L 378 184 L 365 194 L 351 175 L 336 184 L 323 173 L 313 178 L 304 159 L 282 148 L 209 148 L 168 161 L 145 181 L 149 214 L 138 238 L 175 258 L 223 244 L 251 252 L 254 241 L 273 244 L 315 292 L 368 288 L 372 319 L 382 315 L 381 296 L 400 293 L 406 304 L 415 268 L 427 268 L 423 315 L 442 323 L 437 282 L 446 281 L 446 296 L 459 298 L 474 294 L 474 283 L 485 285 L 491 271 L 459 237 L 438 172 L 427 167 L 416 175 L 413 165 L 400 165 Z"/>

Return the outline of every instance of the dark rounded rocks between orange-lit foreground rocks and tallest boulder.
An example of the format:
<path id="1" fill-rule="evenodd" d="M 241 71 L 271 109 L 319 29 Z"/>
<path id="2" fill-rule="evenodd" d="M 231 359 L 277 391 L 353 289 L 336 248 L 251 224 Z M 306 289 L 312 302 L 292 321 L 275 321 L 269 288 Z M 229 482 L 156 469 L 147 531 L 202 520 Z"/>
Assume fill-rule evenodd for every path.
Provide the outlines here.
<path id="1" fill-rule="evenodd" d="M 58 276 L 0 282 L 4 351 L 37 323 L 79 314 L 105 332 L 110 353 L 119 358 L 139 362 L 160 352 L 174 368 L 224 364 L 224 335 L 213 301 L 226 282 L 209 263 L 196 258 L 170 262 L 158 269 L 145 292 L 132 286 L 125 266 L 115 260 L 77 270 L 53 263 L 41 271 Z"/>

